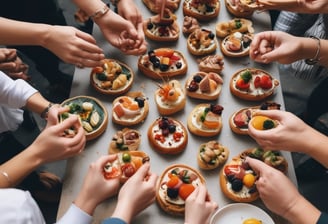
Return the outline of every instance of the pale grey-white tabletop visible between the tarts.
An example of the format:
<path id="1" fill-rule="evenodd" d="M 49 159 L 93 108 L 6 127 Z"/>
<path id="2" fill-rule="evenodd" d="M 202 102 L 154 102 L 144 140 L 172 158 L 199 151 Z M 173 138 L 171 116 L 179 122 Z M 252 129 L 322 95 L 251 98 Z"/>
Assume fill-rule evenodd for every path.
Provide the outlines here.
<path id="1" fill-rule="evenodd" d="M 143 13 L 144 19 L 147 19 L 153 15 L 145 7 L 145 5 L 143 5 L 141 0 L 136 0 L 136 1 L 137 1 L 136 4 L 139 6 L 139 9 Z M 182 23 L 183 23 L 183 14 L 182 14 L 181 6 L 182 6 L 182 2 L 180 4 L 180 8 L 176 12 L 176 15 L 178 17 L 178 23 L 180 25 L 180 30 L 182 30 Z M 215 24 L 218 21 L 228 21 L 232 18 L 234 17 L 226 11 L 224 2 L 221 0 L 221 9 L 218 18 L 207 23 L 201 23 L 200 25 L 202 28 L 207 28 L 215 32 Z M 253 21 L 255 32 L 271 29 L 270 18 L 268 13 L 265 12 L 255 13 L 252 16 L 251 20 Z M 104 52 L 108 58 L 114 58 L 120 60 L 132 68 L 132 70 L 135 73 L 135 82 L 132 86 L 131 91 L 141 90 L 149 98 L 150 111 L 147 119 L 145 120 L 144 123 L 137 126 L 133 126 L 131 128 L 138 129 L 141 132 L 142 141 L 139 149 L 149 154 L 151 158 L 151 165 L 152 165 L 153 172 L 160 175 L 167 166 L 175 163 L 184 163 L 198 169 L 197 160 L 196 160 L 198 147 L 201 143 L 207 142 L 209 140 L 218 140 L 221 144 L 227 146 L 230 149 L 230 156 L 228 160 L 230 160 L 233 156 L 237 155 L 238 153 L 240 153 L 241 151 L 247 148 L 257 146 L 256 142 L 251 137 L 234 134 L 229 128 L 228 119 L 231 116 L 231 114 L 236 110 L 243 107 L 256 106 L 259 105 L 261 102 L 247 102 L 234 97 L 229 91 L 229 81 L 231 75 L 234 72 L 245 67 L 257 67 L 267 70 L 272 74 L 272 76 L 274 76 L 276 79 L 279 80 L 278 68 L 276 64 L 271 64 L 271 65 L 258 64 L 251 61 L 248 57 L 243 57 L 243 58 L 225 57 L 224 58 L 225 66 L 222 72 L 224 84 L 223 84 L 221 95 L 217 100 L 217 103 L 219 103 L 224 107 L 222 113 L 223 129 L 221 133 L 218 136 L 212 138 L 204 138 L 204 137 L 201 138 L 189 133 L 188 145 L 183 153 L 179 155 L 163 155 L 154 151 L 149 146 L 147 134 L 146 134 L 149 125 L 156 118 L 160 116 L 158 114 L 154 102 L 154 96 L 153 96 L 154 91 L 157 89 L 156 83 L 160 81 L 151 80 L 146 76 L 144 76 L 143 74 L 141 74 L 138 71 L 138 67 L 137 67 L 138 57 L 126 56 L 122 54 L 119 50 L 110 46 L 110 44 L 108 44 L 105 41 L 104 37 L 102 36 L 97 26 L 94 26 L 93 34 L 99 46 L 101 46 L 104 49 Z M 192 56 L 188 52 L 186 46 L 186 37 L 182 34 L 182 32 L 177 42 L 156 43 L 156 42 L 148 41 L 148 44 L 149 44 L 148 49 L 154 49 L 158 47 L 170 47 L 181 51 L 186 56 L 188 61 L 188 72 L 185 76 L 181 76 L 177 78 L 182 85 L 184 85 L 184 82 L 187 79 L 187 77 L 198 71 L 197 62 L 196 62 L 197 58 Z M 221 54 L 219 48 L 217 49 L 216 53 Z M 118 130 L 122 129 L 122 126 L 114 125 L 111 121 L 111 109 L 112 109 L 111 103 L 114 97 L 102 95 L 101 93 L 98 93 L 93 89 L 93 87 L 89 84 L 90 71 L 91 71 L 90 68 L 75 69 L 74 79 L 71 89 L 71 96 L 73 97 L 78 95 L 88 95 L 88 96 L 96 97 L 99 100 L 101 100 L 109 112 L 109 122 L 108 122 L 107 130 L 97 139 L 88 142 L 83 153 L 67 161 L 66 174 L 64 176 L 64 185 L 63 185 L 57 218 L 60 218 L 65 213 L 65 211 L 69 208 L 72 201 L 75 199 L 76 195 L 78 194 L 84 176 L 88 170 L 89 164 L 97 160 L 97 158 L 100 155 L 107 154 L 108 146 L 112 136 Z M 280 103 L 282 105 L 282 109 L 284 109 L 283 96 L 280 86 L 275 91 L 275 94 L 269 98 L 269 100 L 273 100 L 275 102 Z M 195 105 L 202 102 L 204 101 L 187 98 L 187 104 L 185 109 L 177 114 L 172 115 L 172 117 L 180 120 L 186 126 L 188 114 L 194 108 Z M 288 176 L 295 184 L 297 184 L 291 154 L 288 152 L 283 152 L 283 156 L 287 159 L 289 163 Z M 220 168 L 212 171 L 200 170 L 200 172 L 206 179 L 207 188 L 213 200 L 218 202 L 219 206 L 222 207 L 226 204 L 233 203 L 233 202 L 227 199 L 221 192 L 219 186 L 219 171 Z M 138 188 L 136 187 L 136 192 L 137 191 Z M 96 193 L 97 192 L 95 192 L 95 194 Z M 90 195 L 90 197 L 92 197 L 92 195 Z M 116 204 L 116 197 L 108 199 L 107 201 L 99 205 L 94 213 L 94 223 L 99 223 L 102 219 L 109 217 L 114 210 L 115 204 Z M 265 207 L 263 206 L 260 200 L 254 202 L 253 204 L 261 207 L 262 209 L 265 209 Z M 271 213 L 269 214 L 275 219 L 276 223 L 284 223 L 284 221 L 280 220 L 279 217 L 276 217 Z M 153 224 L 155 222 L 170 223 L 170 224 L 183 223 L 183 218 L 166 214 L 160 209 L 160 207 L 156 203 L 154 203 L 149 208 L 147 208 L 144 212 L 142 212 L 139 216 L 137 216 L 133 221 L 133 223 L 143 223 L 143 224 L 147 224 L 147 223 Z"/>

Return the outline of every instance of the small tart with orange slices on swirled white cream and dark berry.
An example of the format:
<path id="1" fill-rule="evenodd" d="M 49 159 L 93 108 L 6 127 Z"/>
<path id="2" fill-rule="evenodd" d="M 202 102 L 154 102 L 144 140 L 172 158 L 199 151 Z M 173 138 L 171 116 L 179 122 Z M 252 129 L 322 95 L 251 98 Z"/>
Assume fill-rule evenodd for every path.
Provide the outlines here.
<path id="1" fill-rule="evenodd" d="M 112 120 L 124 126 L 136 125 L 146 119 L 148 112 L 148 100 L 143 93 L 129 92 L 113 101 Z"/>

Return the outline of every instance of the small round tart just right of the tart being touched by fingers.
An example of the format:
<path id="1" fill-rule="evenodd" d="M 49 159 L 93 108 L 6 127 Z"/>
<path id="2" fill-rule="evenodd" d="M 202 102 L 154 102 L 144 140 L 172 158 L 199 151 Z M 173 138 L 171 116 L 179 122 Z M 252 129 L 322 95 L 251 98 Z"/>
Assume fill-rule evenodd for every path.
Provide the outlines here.
<path id="1" fill-rule="evenodd" d="M 206 29 L 196 29 L 187 39 L 189 52 L 196 56 L 208 55 L 216 51 L 217 40 L 215 34 Z"/>

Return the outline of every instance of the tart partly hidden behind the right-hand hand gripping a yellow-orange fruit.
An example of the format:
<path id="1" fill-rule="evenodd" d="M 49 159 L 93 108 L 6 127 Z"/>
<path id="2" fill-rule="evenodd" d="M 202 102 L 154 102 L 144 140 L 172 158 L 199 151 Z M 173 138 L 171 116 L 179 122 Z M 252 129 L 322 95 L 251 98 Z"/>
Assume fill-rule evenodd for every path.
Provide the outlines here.
<path id="1" fill-rule="evenodd" d="M 278 103 L 267 101 L 259 106 L 242 108 L 230 116 L 230 128 L 236 134 L 248 135 L 248 123 L 254 110 L 280 110 L 280 106 Z"/>

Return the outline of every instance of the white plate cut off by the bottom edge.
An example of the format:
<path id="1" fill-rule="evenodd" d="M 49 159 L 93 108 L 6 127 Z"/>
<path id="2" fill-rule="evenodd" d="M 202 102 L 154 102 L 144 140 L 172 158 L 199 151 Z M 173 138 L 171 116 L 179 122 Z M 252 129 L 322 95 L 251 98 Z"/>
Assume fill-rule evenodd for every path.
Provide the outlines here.
<path id="1" fill-rule="evenodd" d="M 229 204 L 220 208 L 211 218 L 211 224 L 242 224 L 244 220 L 255 218 L 263 224 L 274 224 L 271 217 L 262 209 L 246 203 Z"/>

